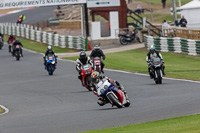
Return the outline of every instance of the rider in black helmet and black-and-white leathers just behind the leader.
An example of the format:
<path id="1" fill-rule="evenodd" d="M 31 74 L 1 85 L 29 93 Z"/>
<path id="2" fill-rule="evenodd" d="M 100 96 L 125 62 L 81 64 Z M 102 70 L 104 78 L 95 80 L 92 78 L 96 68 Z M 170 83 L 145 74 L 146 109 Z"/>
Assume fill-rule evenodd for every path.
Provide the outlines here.
<path id="1" fill-rule="evenodd" d="M 92 60 L 90 59 L 90 57 L 86 56 L 86 53 L 85 51 L 81 51 L 80 52 L 80 57 L 76 60 L 76 70 L 78 71 L 79 73 L 79 76 L 78 76 L 78 79 L 81 80 L 82 82 L 82 71 L 81 71 L 81 66 L 85 65 L 85 64 L 90 64 L 91 66 L 93 66 L 92 64 Z"/>

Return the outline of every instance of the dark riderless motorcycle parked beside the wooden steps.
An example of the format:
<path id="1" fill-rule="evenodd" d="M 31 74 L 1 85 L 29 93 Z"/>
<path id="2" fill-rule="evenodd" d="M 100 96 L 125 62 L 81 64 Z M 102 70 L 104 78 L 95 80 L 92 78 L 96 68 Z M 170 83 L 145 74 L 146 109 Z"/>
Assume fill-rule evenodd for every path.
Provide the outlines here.
<path id="1" fill-rule="evenodd" d="M 123 33 L 123 34 L 119 34 L 119 37 L 120 37 L 120 43 L 122 45 L 127 45 L 128 42 L 133 42 L 135 39 L 137 39 L 137 41 L 139 43 L 141 43 L 140 38 L 138 36 L 138 30 L 137 29 L 135 29 L 132 32 L 126 32 L 126 33 Z"/>

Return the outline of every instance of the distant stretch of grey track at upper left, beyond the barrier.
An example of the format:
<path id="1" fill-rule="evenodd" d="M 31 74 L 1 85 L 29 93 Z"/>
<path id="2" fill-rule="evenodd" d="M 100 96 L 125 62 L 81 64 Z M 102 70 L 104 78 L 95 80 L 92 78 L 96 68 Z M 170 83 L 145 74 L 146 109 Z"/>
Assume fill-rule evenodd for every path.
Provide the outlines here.
<path id="1" fill-rule="evenodd" d="M 36 22 L 41 22 L 43 20 L 47 20 L 53 17 L 53 10 L 56 6 L 46 6 L 46 7 L 36 7 L 30 10 L 25 10 L 22 12 L 9 14 L 3 17 L 0 17 L 0 22 L 9 22 L 9 23 L 16 23 L 18 17 L 21 14 L 26 16 L 23 24 L 32 24 Z"/>

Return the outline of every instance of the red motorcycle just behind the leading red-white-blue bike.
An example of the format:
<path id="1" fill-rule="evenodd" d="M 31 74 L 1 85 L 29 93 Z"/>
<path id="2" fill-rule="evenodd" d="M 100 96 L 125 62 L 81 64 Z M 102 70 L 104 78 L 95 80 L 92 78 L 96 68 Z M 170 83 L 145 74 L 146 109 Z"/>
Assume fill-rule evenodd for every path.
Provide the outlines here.
<path id="1" fill-rule="evenodd" d="M 81 67 L 81 76 L 82 76 L 82 85 L 87 88 L 89 91 L 92 91 L 92 66 L 90 64 L 85 64 Z"/>

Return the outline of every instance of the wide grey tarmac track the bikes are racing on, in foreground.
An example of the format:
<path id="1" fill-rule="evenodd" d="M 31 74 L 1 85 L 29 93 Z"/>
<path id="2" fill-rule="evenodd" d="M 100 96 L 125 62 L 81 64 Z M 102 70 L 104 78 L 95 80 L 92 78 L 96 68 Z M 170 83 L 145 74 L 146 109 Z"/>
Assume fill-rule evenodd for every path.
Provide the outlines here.
<path id="1" fill-rule="evenodd" d="M 131 106 L 97 105 L 97 97 L 81 86 L 75 64 L 58 61 L 53 76 L 44 70 L 42 55 L 24 51 L 16 61 L 7 45 L 0 50 L 0 133 L 74 133 L 111 128 L 200 110 L 200 84 L 105 71 L 126 88 Z"/>

